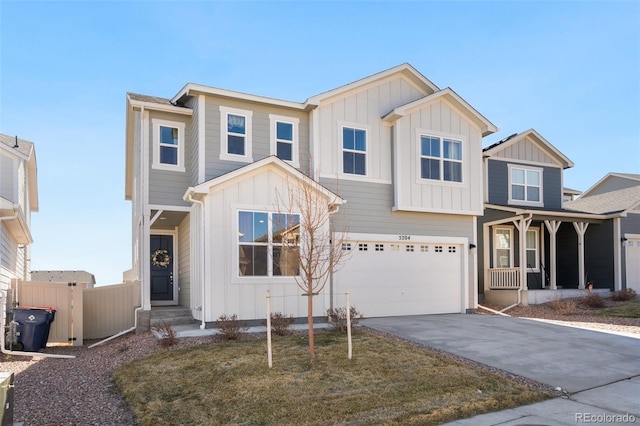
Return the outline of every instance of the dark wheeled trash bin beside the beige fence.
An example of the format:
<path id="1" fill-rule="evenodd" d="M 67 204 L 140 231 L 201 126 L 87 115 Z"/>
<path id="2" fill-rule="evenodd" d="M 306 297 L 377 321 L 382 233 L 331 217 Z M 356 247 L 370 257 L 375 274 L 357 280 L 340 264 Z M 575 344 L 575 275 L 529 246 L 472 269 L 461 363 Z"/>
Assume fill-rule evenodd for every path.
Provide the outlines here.
<path id="1" fill-rule="evenodd" d="M 47 346 L 51 323 L 55 319 L 53 307 L 19 308 L 13 310 L 13 320 L 17 325 L 17 340 L 23 350 L 37 352 Z"/>

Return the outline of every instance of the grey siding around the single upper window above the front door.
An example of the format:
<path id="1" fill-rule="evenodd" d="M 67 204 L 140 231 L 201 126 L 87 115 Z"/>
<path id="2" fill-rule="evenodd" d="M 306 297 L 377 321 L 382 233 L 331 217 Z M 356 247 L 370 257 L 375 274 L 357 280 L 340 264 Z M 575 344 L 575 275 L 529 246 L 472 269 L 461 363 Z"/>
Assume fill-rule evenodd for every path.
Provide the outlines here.
<path id="1" fill-rule="evenodd" d="M 154 169 L 153 164 L 153 119 L 161 119 L 185 123 L 185 171 L 159 170 Z M 158 111 L 151 111 L 149 114 L 149 203 L 167 206 L 188 206 L 182 199 L 186 189 L 192 185 L 192 175 L 190 171 L 197 165 L 194 158 L 189 155 L 194 143 L 194 137 L 190 126 L 191 117 L 178 114 L 170 114 Z"/>

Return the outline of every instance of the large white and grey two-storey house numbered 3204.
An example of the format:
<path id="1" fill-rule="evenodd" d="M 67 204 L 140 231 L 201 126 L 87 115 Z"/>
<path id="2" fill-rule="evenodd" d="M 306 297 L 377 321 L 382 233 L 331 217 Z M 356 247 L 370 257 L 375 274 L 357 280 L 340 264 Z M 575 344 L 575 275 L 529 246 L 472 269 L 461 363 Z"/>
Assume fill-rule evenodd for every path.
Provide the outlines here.
<path id="1" fill-rule="evenodd" d="M 203 326 L 261 319 L 267 289 L 274 311 L 306 316 L 274 225 L 278 194 L 299 182 L 340 209 L 334 232 L 348 230 L 316 314 L 347 290 L 369 317 L 476 307 L 482 138 L 497 128 L 450 88 L 403 64 L 302 103 L 191 83 L 126 102 L 128 276 L 142 283 L 142 320 L 158 305 Z"/>

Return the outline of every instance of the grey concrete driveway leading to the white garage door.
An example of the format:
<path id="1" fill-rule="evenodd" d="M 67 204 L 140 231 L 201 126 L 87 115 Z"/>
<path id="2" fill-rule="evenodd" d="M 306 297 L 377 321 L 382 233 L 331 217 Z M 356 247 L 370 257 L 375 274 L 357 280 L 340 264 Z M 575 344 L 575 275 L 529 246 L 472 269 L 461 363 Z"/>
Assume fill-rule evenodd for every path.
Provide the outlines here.
<path id="1" fill-rule="evenodd" d="M 491 315 L 368 318 L 360 324 L 568 393 L 454 424 L 629 423 L 615 417 L 622 415 L 640 424 L 640 339 Z"/>

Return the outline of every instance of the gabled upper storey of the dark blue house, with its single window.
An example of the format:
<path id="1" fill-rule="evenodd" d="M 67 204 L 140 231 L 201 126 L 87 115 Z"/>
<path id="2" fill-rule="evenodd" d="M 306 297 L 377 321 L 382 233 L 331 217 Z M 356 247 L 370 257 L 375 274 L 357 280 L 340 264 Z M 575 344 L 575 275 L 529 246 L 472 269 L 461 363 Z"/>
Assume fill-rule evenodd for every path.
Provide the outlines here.
<path id="1" fill-rule="evenodd" d="M 485 202 L 561 209 L 563 170 L 573 162 L 538 132 L 513 134 L 483 150 Z"/>

